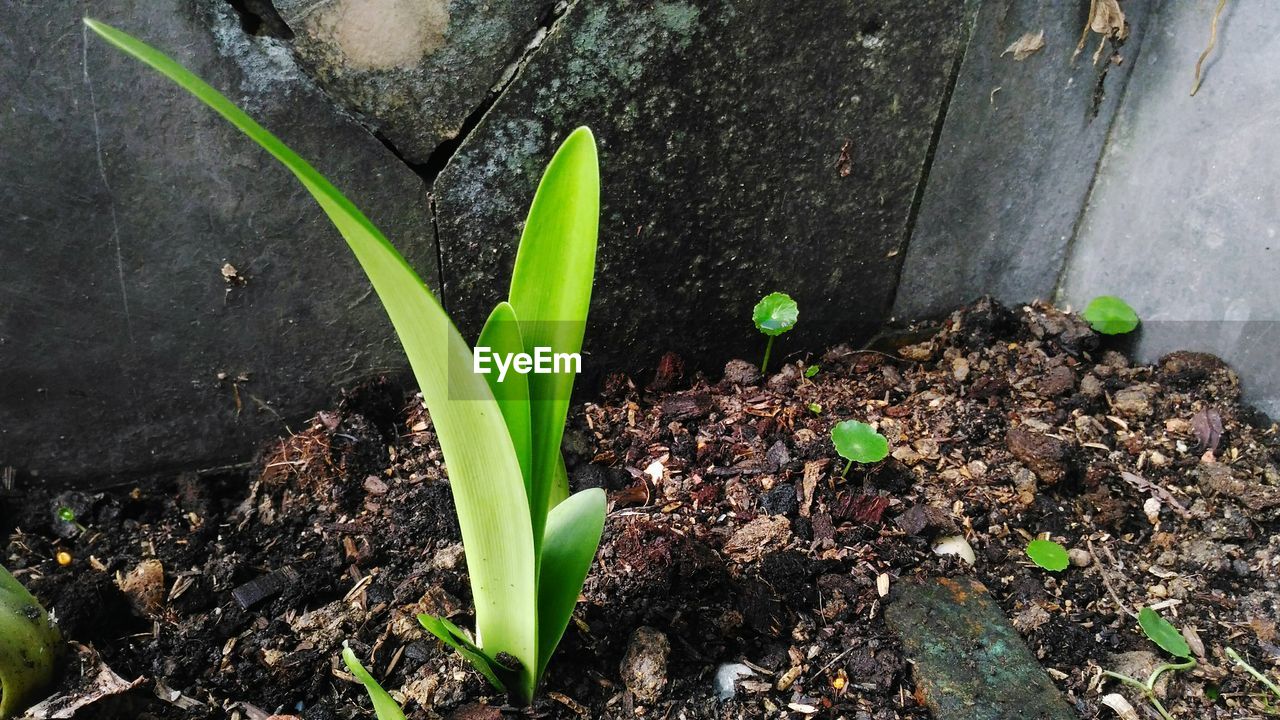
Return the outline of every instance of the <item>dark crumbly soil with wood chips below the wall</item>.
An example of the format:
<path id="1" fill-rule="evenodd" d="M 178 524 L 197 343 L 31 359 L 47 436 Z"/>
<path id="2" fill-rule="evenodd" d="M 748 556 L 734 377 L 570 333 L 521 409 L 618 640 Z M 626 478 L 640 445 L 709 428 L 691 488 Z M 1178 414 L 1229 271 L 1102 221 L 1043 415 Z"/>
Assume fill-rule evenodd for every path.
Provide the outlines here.
<path id="1" fill-rule="evenodd" d="M 878 583 L 955 574 L 991 589 L 1082 717 L 1115 716 L 1106 692 L 1144 711 L 1100 675 L 1160 656 L 1128 614 L 1144 605 L 1203 646 L 1165 688 L 1175 716 L 1268 712 L 1224 648 L 1280 665 L 1280 439 L 1230 369 L 1199 354 L 1134 365 L 1044 306 L 979 301 L 918 337 L 837 347 L 763 383 L 741 361 L 719 382 L 686 378 L 668 356 L 648 387 L 612 377 L 577 407 L 571 480 L 604 487 L 611 511 L 531 711 L 499 710 L 413 620 L 468 625 L 470 591 L 430 419 L 385 383 L 247 478 L 27 491 L 8 501 L 8 566 L 68 638 L 142 680 L 77 717 L 371 717 L 338 660 L 349 641 L 410 717 L 925 719 Z M 850 418 L 876 423 L 892 456 L 841 478 L 828 432 Z M 1039 533 L 1080 565 L 1032 565 Z M 950 534 L 974 566 L 933 552 Z M 664 673 L 623 676 L 625 657 L 663 647 Z M 83 657 L 61 692 L 92 674 Z M 754 674 L 717 701 L 726 662 Z"/>

